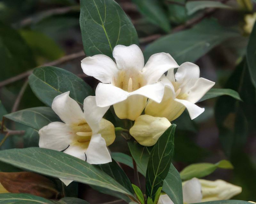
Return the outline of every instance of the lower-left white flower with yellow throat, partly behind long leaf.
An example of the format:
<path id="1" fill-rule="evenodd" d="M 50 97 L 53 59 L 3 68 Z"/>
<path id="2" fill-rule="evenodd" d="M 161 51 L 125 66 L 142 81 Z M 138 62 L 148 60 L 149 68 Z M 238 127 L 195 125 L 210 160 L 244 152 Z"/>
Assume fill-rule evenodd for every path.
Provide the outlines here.
<path id="1" fill-rule="evenodd" d="M 103 119 L 109 107 L 97 107 L 95 96 L 84 99 L 84 113 L 69 97 L 69 91 L 56 96 L 52 110 L 64 122 L 51 122 L 39 130 L 39 147 L 62 151 L 90 164 L 111 162 L 107 146 L 115 140 L 115 128 Z M 61 179 L 66 185 L 70 180 Z"/>

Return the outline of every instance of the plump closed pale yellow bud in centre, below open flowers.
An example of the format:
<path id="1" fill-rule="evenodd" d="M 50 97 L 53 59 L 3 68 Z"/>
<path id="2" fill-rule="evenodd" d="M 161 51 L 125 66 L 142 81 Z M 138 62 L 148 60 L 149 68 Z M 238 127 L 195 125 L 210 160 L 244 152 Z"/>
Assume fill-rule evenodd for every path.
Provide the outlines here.
<path id="1" fill-rule="evenodd" d="M 140 115 L 130 129 L 130 134 L 141 145 L 152 146 L 170 126 L 171 123 L 166 118 Z"/>

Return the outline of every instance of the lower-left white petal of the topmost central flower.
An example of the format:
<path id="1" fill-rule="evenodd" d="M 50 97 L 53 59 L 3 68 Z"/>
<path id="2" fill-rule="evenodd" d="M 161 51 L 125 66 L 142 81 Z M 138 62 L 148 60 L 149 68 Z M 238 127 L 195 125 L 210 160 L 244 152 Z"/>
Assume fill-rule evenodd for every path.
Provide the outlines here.
<path id="1" fill-rule="evenodd" d="M 95 95 L 97 106 L 107 107 L 125 100 L 129 93 L 112 84 L 99 83 Z"/>

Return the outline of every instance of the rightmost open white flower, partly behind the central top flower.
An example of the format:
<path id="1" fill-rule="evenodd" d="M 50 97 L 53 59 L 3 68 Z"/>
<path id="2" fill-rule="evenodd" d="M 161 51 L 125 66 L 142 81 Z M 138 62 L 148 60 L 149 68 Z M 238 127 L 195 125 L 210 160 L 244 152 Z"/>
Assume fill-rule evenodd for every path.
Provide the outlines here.
<path id="1" fill-rule="evenodd" d="M 161 103 L 149 100 L 145 114 L 172 121 L 187 108 L 192 120 L 199 116 L 204 108 L 195 103 L 215 84 L 208 79 L 199 78 L 199 75 L 199 67 L 191 62 L 181 64 L 175 75 L 174 69 L 170 69 L 167 76 L 163 75 L 160 79 L 165 85 L 163 100 Z"/>

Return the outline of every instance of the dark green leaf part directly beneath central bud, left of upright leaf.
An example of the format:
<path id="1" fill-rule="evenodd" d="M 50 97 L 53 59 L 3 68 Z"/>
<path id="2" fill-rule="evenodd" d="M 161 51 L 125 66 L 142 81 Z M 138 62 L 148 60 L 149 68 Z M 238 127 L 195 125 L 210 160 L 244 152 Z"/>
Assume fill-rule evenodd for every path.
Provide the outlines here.
<path id="1" fill-rule="evenodd" d="M 135 160 L 137 166 L 141 169 L 141 173 L 146 176 L 148 159 L 151 151 L 151 147 L 145 147 L 140 145 L 136 141 L 128 141 L 128 146 Z"/>

